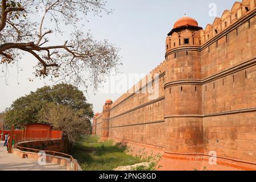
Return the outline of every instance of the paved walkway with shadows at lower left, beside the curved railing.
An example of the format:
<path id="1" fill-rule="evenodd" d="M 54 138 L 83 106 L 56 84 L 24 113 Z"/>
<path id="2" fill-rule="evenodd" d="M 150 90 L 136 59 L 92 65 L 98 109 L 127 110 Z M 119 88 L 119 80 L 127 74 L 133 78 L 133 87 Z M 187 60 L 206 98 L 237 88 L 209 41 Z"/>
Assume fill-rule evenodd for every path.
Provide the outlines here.
<path id="1" fill-rule="evenodd" d="M 17 155 L 8 154 L 0 141 L 0 171 L 65 171 L 65 167 L 55 164 L 39 165 L 34 159 L 22 159 Z"/>

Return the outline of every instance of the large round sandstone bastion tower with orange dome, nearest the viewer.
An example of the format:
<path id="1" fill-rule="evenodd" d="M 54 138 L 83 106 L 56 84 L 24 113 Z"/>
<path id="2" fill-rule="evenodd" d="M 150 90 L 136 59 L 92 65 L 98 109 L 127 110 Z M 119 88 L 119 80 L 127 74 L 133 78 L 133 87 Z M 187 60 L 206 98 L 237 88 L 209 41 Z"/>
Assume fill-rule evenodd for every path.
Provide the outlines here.
<path id="1" fill-rule="evenodd" d="M 166 155 L 203 153 L 200 31 L 183 16 L 166 38 Z"/>

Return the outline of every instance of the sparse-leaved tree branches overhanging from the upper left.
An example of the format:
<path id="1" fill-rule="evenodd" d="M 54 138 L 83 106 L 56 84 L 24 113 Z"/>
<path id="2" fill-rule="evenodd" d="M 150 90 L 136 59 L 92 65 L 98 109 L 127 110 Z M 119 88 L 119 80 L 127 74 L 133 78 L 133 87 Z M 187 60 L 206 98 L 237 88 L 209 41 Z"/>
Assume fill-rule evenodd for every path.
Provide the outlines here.
<path id="1" fill-rule="evenodd" d="M 97 88 L 110 70 L 120 64 L 118 48 L 108 40 L 97 42 L 77 25 L 86 20 L 90 12 L 111 13 L 105 3 L 104 0 L 2 0 L 1 64 L 13 64 L 23 53 L 30 53 L 38 62 L 36 77 L 50 76 L 52 80 L 57 78 L 85 86 L 90 83 Z M 42 16 L 36 22 L 33 19 L 39 13 Z M 75 30 L 69 40 L 60 45 L 51 42 L 52 34 L 63 34 L 63 26 L 72 26 Z"/>

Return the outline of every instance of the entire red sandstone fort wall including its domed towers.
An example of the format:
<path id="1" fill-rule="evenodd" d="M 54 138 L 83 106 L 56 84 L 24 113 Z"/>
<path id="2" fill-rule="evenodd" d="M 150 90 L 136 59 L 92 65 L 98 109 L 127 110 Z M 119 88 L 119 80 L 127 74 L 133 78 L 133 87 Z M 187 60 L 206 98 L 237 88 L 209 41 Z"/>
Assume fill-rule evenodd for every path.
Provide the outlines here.
<path id="1" fill-rule="evenodd" d="M 93 134 L 163 148 L 161 164 L 187 159 L 198 166 L 214 151 L 222 164 L 256 169 L 255 14 L 255 0 L 243 0 L 205 30 L 192 18 L 179 19 L 152 80 L 106 101 Z M 145 92 L 148 86 L 158 97 Z"/>

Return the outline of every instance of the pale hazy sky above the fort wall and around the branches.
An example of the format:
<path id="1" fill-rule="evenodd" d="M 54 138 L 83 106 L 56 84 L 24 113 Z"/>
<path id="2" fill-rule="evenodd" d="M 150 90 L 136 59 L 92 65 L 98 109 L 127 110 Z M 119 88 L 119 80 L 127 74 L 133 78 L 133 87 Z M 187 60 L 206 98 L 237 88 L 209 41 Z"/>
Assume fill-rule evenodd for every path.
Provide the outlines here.
<path id="1" fill-rule="evenodd" d="M 97 40 L 108 39 L 109 42 L 121 49 L 123 65 L 119 71 L 125 75 L 131 73 L 149 73 L 164 60 L 165 40 L 177 19 L 184 13 L 194 18 L 199 26 L 205 28 L 213 23 L 215 17 L 208 15 L 209 4 L 216 3 L 217 16 L 225 9 L 231 9 L 235 1 L 231 0 L 107 0 L 108 9 L 114 9 L 110 15 L 102 14 L 102 18 L 89 15 L 89 23 L 83 29 L 90 30 Z M 68 28 L 65 29 L 68 35 Z M 51 38 L 53 42 L 65 38 Z M 0 111 L 10 107 L 17 98 L 29 94 L 44 85 L 52 85 L 48 80 L 36 79 L 33 82 L 33 67 L 36 59 L 24 55 L 19 61 L 22 72 L 17 74 L 16 65 L 9 69 L 9 77 L 1 77 L 0 73 Z M 2 67 L 2 65 L 0 65 Z M 7 83 L 6 83 L 7 80 Z M 131 85 L 129 85 L 131 86 Z M 93 104 L 95 112 L 101 112 L 106 100 L 115 101 L 121 93 L 100 93 L 89 89 L 86 98 Z"/>

